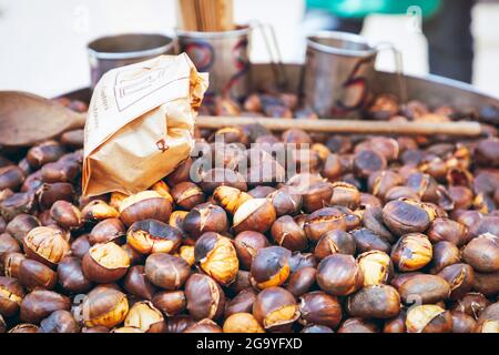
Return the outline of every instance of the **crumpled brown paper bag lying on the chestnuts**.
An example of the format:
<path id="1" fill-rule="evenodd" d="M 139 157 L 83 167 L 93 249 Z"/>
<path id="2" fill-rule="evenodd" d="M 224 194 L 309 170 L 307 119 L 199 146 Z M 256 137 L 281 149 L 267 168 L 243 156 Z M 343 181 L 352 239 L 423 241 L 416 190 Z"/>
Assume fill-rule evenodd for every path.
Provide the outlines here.
<path id="1" fill-rule="evenodd" d="M 171 173 L 194 145 L 207 74 L 185 53 L 105 73 L 85 124 L 83 194 L 136 193 Z"/>

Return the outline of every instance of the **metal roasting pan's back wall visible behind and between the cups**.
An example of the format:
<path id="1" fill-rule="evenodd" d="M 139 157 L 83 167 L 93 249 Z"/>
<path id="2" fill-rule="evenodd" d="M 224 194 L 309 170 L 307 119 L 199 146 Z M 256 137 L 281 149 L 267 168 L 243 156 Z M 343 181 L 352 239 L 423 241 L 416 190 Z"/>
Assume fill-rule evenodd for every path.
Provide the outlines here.
<path id="1" fill-rule="evenodd" d="M 303 65 L 285 64 L 284 69 L 288 79 L 288 90 L 298 92 Z M 257 89 L 266 83 L 268 84 L 268 80 L 275 81 L 274 72 L 272 64 L 253 64 L 251 72 L 253 88 Z M 420 100 L 430 106 L 452 105 L 459 110 L 483 105 L 499 106 L 499 98 L 487 95 L 472 85 L 460 81 L 437 75 L 404 75 L 404 78 L 409 100 Z M 375 87 L 371 90 L 374 93 L 397 94 L 397 75 L 391 72 L 377 71 Z M 90 89 L 84 88 L 63 93 L 61 97 L 89 102 L 90 94 Z"/>

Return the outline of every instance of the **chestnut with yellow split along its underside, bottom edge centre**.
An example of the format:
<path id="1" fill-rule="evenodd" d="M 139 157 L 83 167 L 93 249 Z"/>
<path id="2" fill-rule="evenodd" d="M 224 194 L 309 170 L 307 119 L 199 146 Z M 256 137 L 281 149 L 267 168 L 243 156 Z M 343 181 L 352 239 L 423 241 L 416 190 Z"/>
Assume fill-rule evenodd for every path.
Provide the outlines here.
<path id="1" fill-rule="evenodd" d="M 268 287 L 256 296 L 253 315 L 267 332 L 284 332 L 299 317 L 293 294 L 282 287 Z"/>

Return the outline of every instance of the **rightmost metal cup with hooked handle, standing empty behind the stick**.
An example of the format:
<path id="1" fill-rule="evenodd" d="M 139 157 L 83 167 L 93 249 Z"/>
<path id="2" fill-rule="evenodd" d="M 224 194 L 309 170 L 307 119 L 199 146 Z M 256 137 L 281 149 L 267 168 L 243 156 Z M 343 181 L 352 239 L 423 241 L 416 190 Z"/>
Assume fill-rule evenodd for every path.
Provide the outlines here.
<path id="1" fill-rule="evenodd" d="M 401 55 L 391 43 L 371 45 L 357 34 L 319 31 L 307 38 L 302 77 L 305 103 L 322 119 L 359 119 L 370 98 L 376 55 L 381 50 L 394 53 L 400 99 L 405 101 Z"/>

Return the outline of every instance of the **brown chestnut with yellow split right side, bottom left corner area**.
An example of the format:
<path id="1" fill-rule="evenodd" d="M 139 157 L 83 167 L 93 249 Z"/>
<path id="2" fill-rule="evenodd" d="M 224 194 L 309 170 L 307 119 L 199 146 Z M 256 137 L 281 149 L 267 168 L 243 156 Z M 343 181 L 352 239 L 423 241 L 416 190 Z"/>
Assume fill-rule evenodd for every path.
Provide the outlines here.
<path id="1" fill-rule="evenodd" d="M 86 327 L 112 328 L 122 323 L 128 313 L 126 295 L 114 287 L 104 285 L 93 288 L 82 304 L 83 324 Z"/>

